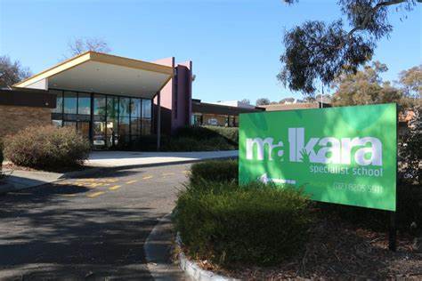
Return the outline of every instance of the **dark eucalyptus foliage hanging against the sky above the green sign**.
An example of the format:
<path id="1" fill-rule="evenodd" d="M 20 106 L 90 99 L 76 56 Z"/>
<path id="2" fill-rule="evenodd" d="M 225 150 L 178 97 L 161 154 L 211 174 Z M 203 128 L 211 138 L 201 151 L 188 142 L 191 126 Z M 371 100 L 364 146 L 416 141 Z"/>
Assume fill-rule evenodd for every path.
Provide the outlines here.
<path id="1" fill-rule="evenodd" d="M 284 2 L 295 4 L 297 0 Z M 401 18 L 406 18 L 421 2 L 338 0 L 345 20 L 308 20 L 285 33 L 279 80 L 290 90 L 309 95 L 319 83 L 329 85 L 341 74 L 356 73 L 372 59 L 377 42 L 393 31 L 390 15 L 402 12 Z"/>

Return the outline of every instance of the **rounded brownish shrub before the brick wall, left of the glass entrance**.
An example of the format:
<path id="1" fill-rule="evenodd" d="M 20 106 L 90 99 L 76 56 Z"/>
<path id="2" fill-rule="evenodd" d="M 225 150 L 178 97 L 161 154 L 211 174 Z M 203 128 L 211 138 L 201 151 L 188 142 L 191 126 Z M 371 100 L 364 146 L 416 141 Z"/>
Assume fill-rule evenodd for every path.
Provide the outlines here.
<path id="1" fill-rule="evenodd" d="M 4 156 L 13 164 L 46 170 L 82 165 L 89 151 L 89 141 L 69 127 L 28 127 L 4 140 Z"/>

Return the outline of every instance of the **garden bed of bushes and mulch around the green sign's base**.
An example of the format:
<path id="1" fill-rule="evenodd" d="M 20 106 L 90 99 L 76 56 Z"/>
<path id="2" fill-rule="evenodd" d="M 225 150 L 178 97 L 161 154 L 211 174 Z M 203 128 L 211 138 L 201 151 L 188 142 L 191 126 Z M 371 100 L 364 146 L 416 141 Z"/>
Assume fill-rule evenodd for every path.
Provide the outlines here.
<path id="1" fill-rule="evenodd" d="M 397 251 L 392 252 L 388 213 L 318 202 L 298 204 L 300 197 L 272 194 L 259 185 L 246 188 L 265 192 L 248 197 L 248 192 L 239 191 L 237 173 L 231 171 L 236 166 L 236 161 L 192 165 L 190 184 L 177 202 L 175 227 L 185 242 L 183 253 L 200 268 L 242 280 L 422 279 L 420 186 L 402 184 L 397 190 Z M 284 219 L 289 216 L 282 213 L 292 208 L 301 211 L 305 221 Z M 304 231 L 305 240 L 292 239 Z M 294 244 L 295 251 L 281 257 L 286 237 L 284 244 Z"/>

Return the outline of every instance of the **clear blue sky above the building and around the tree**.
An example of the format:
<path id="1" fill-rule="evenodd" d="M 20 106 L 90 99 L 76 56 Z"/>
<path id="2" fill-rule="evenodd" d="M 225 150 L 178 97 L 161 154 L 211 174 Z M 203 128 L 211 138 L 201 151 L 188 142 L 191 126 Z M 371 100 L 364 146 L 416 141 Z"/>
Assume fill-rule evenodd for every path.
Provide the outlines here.
<path id="1" fill-rule="evenodd" d="M 393 10 L 392 10 L 393 11 Z M 402 19 L 407 15 L 407 19 Z M 0 0 L 0 55 L 35 74 L 63 59 L 71 40 L 99 37 L 112 54 L 140 60 L 192 60 L 193 97 L 203 101 L 301 98 L 278 82 L 282 36 L 305 20 L 337 20 L 337 1 Z M 422 63 L 422 4 L 393 12 L 394 31 L 374 60 L 396 80 Z"/>

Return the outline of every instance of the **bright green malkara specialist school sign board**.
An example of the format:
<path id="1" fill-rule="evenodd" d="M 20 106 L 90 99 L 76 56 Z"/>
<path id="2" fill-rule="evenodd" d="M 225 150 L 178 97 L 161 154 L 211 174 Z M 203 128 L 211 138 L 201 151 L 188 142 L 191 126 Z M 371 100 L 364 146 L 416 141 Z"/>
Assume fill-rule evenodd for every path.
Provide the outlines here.
<path id="1" fill-rule="evenodd" d="M 239 182 L 303 188 L 312 200 L 395 211 L 396 105 L 242 114 Z"/>

